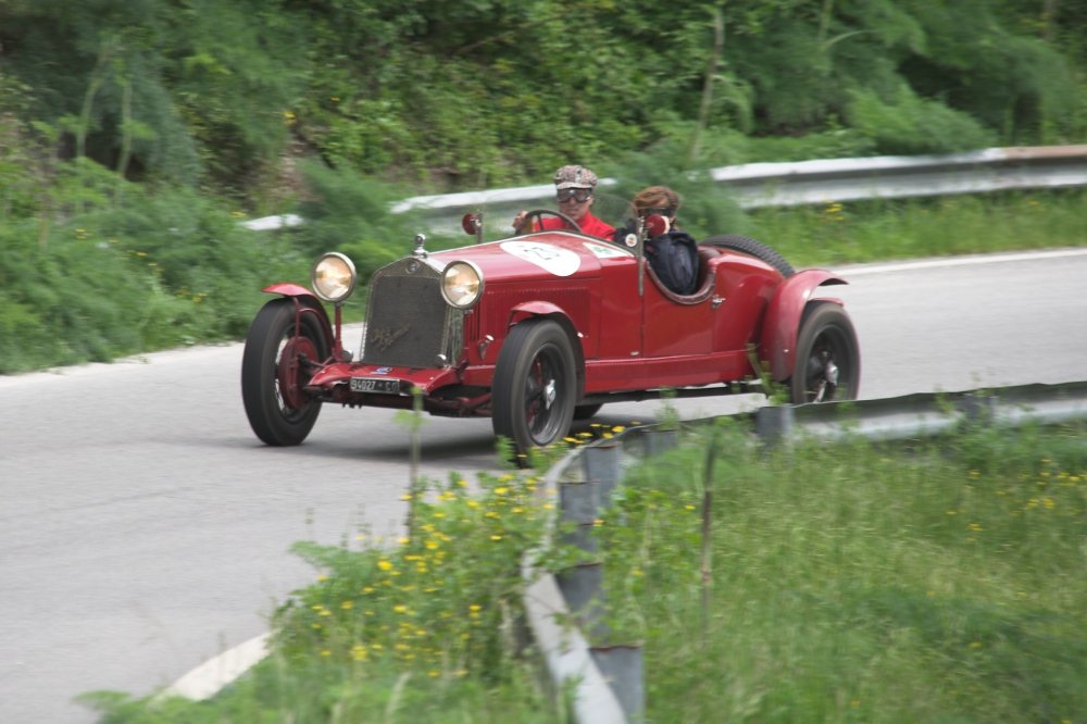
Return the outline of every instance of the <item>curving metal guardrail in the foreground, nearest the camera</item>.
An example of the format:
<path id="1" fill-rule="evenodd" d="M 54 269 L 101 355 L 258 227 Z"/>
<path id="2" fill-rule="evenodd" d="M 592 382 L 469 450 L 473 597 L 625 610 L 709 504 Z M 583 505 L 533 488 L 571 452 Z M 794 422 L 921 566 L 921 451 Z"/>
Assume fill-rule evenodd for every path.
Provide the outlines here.
<path id="1" fill-rule="evenodd" d="M 753 413 L 730 416 L 748 420 L 753 432 L 766 445 L 788 444 L 801 437 L 840 439 L 860 436 L 873 440 L 904 440 L 938 435 L 972 422 L 1022 425 L 1087 420 L 1087 382 L 821 404 L 767 405 Z M 697 425 L 700 422 L 707 421 L 684 424 Z M 627 429 L 607 441 L 621 457 L 610 469 L 599 463 L 590 464 L 588 455 L 597 451 L 596 446 L 578 448 L 548 471 L 545 489 L 547 495 L 560 501 L 563 497 L 559 490 L 570 482 L 611 489 L 619 484 L 623 467 L 637 464 L 639 459 L 673 447 L 675 442 L 674 435 L 654 433 L 654 426 Z M 602 470 L 610 470 L 610 473 L 601 475 Z M 607 496 L 596 494 L 594 498 L 600 505 Z M 559 515 L 570 520 L 570 515 L 562 510 Z M 554 535 L 553 529 L 549 535 Z M 639 721 L 644 714 L 639 697 L 646 690 L 645 683 L 630 682 L 628 675 L 607 676 L 595 660 L 587 637 L 578 628 L 560 624 L 577 621 L 578 611 L 587 608 L 584 600 L 580 607 L 567 604 L 558 577 L 541 575 L 527 563 L 524 576 L 532 582 L 525 592 L 529 627 L 552 679 L 560 687 L 574 688 L 575 720 L 582 724 Z M 597 595 L 603 596 L 599 591 Z M 591 625 L 591 619 L 586 620 L 584 615 L 580 621 Z"/>

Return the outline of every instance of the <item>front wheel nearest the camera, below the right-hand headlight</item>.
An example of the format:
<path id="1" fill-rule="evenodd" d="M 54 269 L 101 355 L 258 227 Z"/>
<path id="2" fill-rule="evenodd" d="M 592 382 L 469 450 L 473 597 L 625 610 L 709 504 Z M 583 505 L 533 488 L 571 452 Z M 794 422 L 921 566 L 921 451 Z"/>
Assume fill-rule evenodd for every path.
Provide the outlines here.
<path id="1" fill-rule="evenodd" d="M 529 320 L 510 330 L 495 364 L 491 424 L 517 453 L 570 430 L 577 394 L 574 351 L 555 322 Z"/>

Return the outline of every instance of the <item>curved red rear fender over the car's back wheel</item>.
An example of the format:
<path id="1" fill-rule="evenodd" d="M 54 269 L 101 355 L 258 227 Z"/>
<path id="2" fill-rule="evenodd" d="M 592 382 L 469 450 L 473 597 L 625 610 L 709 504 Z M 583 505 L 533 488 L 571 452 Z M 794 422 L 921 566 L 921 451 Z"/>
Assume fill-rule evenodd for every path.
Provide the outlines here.
<path id="1" fill-rule="evenodd" d="M 848 282 L 825 270 L 812 269 L 794 274 L 774 292 L 759 336 L 759 359 L 770 364 L 773 379 L 782 382 L 792 376 L 800 322 L 812 292 L 837 284 Z M 841 304 L 836 299 L 826 301 Z"/>

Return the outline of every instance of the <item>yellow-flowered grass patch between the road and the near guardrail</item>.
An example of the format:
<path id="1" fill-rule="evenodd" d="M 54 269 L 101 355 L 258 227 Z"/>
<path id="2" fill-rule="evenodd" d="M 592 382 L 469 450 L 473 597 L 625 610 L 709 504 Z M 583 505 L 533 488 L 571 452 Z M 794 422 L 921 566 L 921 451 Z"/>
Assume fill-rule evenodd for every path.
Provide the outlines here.
<path id="1" fill-rule="evenodd" d="M 408 535 L 300 542 L 321 572 L 276 612 L 271 656 L 208 701 L 95 692 L 109 723 L 566 721 L 522 656 L 521 558 L 552 505 L 532 473 L 408 494 Z"/>

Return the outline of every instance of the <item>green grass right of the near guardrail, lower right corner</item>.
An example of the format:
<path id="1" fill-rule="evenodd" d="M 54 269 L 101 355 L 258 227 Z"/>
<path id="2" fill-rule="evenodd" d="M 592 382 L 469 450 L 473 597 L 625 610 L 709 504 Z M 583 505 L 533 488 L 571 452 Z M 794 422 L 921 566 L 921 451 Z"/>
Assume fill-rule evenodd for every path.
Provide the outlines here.
<path id="1" fill-rule="evenodd" d="M 649 721 L 1083 721 L 1082 427 L 771 455 L 728 434 L 708 609 L 704 457 L 639 467 L 601 528 Z"/>

